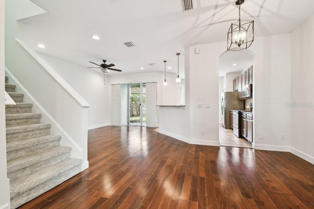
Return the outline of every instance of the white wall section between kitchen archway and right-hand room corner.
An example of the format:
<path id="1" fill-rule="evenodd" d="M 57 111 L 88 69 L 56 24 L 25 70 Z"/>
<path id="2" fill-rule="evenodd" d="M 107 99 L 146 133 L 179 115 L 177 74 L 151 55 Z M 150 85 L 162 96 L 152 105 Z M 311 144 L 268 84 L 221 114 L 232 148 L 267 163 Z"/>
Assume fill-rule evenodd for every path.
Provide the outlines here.
<path id="1" fill-rule="evenodd" d="M 284 104 L 290 101 L 290 34 L 257 37 L 250 50 L 255 54 L 253 146 L 289 151 L 290 113 Z"/>

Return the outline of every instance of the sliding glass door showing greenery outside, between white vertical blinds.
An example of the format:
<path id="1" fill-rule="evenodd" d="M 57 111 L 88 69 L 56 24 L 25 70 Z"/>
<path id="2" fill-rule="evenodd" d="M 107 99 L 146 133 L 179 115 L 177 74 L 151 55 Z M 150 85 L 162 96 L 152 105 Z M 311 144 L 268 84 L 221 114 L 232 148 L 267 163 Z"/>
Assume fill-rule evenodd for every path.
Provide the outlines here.
<path id="1" fill-rule="evenodd" d="M 146 83 L 129 84 L 129 126 L 146 126 Z"/>

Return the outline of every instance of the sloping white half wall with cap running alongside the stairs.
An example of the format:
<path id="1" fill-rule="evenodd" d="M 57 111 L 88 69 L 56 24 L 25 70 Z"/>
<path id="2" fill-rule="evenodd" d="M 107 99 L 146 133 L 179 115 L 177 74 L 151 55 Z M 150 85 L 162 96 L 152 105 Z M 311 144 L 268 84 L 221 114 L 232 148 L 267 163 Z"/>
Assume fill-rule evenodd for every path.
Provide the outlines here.
<path id="1" fill-rule="evenodd" d="M 33 111 L 43 114 L 42 123 L 52 124 L 51 132 L 62 136 L 61 145 L 72 148 L 71 157 L 82 159 L 82 170 L 88 168 L 87 111 L 90 106 L 49 64 L 22 41 L 14 44 L 13 62 L 6 60 L 6 76 Z M 27 89 L 27 90 L 26 90 Z"/>

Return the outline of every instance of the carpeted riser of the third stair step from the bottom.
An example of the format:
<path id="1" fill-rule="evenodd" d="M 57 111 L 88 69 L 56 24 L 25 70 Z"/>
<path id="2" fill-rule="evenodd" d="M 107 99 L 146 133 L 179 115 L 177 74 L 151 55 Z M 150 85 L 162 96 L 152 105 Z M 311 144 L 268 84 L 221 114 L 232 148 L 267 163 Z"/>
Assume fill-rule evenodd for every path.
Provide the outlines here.
<path id="1" fill-rule="evenodd" d="M 19 150 L 14 150 L 6 153 L 7 160 L 16 159 L 18 157 L 24 157 L 30 154 L 34 154 L 38 151 L 48 150 L 53 147 L 57 147 L 60 145 L 60 140 L 50 141 L 43 144 L 38 144 L 31 147 L 22 148 Z"/>

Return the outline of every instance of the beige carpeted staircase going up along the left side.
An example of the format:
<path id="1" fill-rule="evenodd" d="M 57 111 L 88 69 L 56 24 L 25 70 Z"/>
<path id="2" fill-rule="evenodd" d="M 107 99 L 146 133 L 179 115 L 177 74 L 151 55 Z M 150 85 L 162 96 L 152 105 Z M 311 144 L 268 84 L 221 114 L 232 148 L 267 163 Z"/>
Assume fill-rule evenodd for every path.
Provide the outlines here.
<path id="1" fill-rule="evenodd" d="M 7 172 L 11 208 L 15 209 L 81 172 L 81 159 L 71 158 L 70 147 L 60 146 L 61 136 L 50 134 L 51 124 L 40 123 L 33 104 L 8 84 L 5 91 L 16 105 L 5 108 Z"/>

